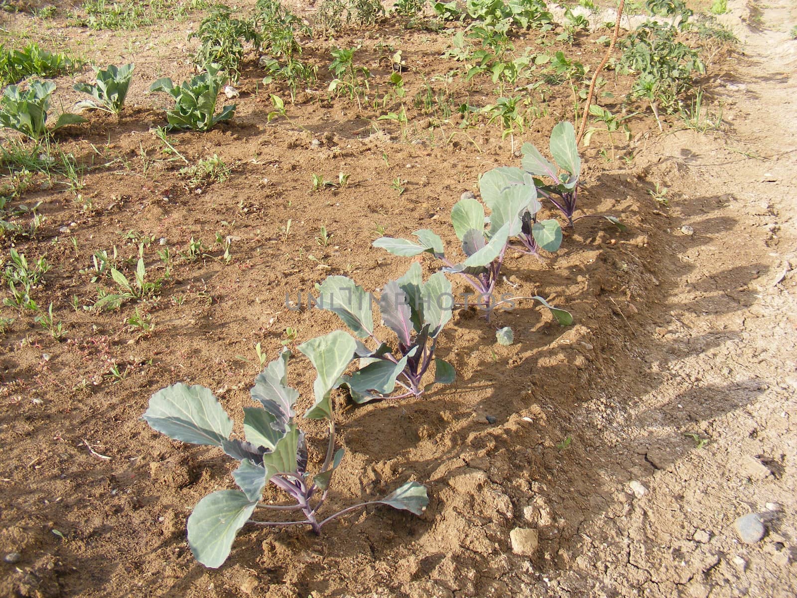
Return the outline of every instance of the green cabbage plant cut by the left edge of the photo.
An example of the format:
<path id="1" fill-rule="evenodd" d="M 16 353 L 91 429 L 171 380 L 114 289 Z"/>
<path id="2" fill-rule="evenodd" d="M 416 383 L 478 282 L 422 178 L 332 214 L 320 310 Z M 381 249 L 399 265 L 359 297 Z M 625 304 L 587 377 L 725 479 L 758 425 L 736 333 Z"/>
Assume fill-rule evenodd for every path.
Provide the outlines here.
<path id="1" fill-rule="evenodd" d="M 52 81 L 33 81 L 27 91 L 22 91 L 17 85 L 9 85 L 0 98 L 0 126 L 40 140 L 47 133 L 47 111 L 54 91 Z M 84 122 L 86 120 L 82 116 L 64 112 L 58 117 L 53 131 L 68 124 Z"/>

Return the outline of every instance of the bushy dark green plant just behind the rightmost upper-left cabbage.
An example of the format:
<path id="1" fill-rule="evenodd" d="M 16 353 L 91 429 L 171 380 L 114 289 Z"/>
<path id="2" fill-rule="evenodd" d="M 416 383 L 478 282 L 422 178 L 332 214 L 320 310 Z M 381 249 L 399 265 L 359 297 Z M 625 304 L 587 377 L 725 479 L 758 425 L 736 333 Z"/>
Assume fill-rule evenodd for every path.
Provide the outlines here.
<path id="1" fill-rule="evenodd" d="M 243 61 L 245 43 L 254 47 L 260 45 L 261 37 L 255 28 L 255 22 L 232 18 L 233 9 L 219 4 L 202 20 L 199 29 L 188 36 L 198 38 L 199 49 L 194 53 L 194 65 L 203 68 L 205 65 L 218 65 L 221 70 L 232 73 L 234 81 L 240 73 L 238 65 Z"/>

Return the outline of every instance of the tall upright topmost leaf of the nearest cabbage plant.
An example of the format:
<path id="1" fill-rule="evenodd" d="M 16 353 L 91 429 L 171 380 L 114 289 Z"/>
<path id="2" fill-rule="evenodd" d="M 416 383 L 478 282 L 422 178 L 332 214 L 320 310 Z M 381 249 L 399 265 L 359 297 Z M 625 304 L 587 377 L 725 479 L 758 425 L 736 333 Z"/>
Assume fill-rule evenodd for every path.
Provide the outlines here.
<path id="1" fill-rule="evenodd" d="M 304 414 L 308 419 L 332 419 L 332 402 L 329 395 L 338 384 L 338 379 L 354 358 L 357 344 L 342 330 L 318 336 L 300 344 L 298 349 L 308 356 L 316 367 L 318 376 L 312 388 L 316 402 Z"/>

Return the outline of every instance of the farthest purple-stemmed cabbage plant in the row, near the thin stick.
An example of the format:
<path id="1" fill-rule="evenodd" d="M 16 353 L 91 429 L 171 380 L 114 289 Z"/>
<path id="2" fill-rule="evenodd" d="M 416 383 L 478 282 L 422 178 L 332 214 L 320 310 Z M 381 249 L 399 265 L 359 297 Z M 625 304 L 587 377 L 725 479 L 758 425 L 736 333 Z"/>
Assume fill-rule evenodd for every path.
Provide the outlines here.
<path id="1" fill-rule="evenodd" d="M 599 214 L 589 214 L 573 218 L 575 212 L 576 199 L 579 195 L 579 175 L 581 174 L 581 158 L 575 143 L 575 129 L 568 122 L 556 125 L 551 132 L 551 140 L 548 145 L 551 155 L 556 160 L 549 162 L 532 144 L 523 144 L 520 151 L 523 152 L 523 170 L 520 168 L 506 168 L 509 176 L 519 178 L 521 175 L 532 175 L 534 185 L 538 195 L 548 199 L 559 211 L 567 218 L 570 226 L 574 226 L 576 220 L 582 218 L 605 218 L 620 230 L 625 230 L 625 226 L 614 216 L 604 216 Z M 512 174 L 509 174 L 512 171 Z M 561 174 L 559 174 L 561 171 Z M 545 176 L 551 179 L 552 183 L 545 184 L 538 176 Z M 524 226 L 536 226 L 536 221 L 524 222 Z M 552 225 L 550 226 L 553 232 Z M 530 244 L 526 244 L 529 250 L 534 250 Z"/>

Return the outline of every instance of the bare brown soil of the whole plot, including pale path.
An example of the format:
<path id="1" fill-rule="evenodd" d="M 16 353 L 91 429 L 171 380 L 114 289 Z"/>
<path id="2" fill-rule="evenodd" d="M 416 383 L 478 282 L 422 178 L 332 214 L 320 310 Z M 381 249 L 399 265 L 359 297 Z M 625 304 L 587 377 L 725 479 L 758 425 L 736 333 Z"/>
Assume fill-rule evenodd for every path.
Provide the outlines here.
<path id="1" fill-rule="evenodd" d="M 633 155 L 627 163 L 599 155 L 596 137 L 583 152 L 582 213 L 618 215 L 629 229 L 587 219 L 556 255 L 505 265 L 502 291 L 550 297 L 575 326 L 560 328 L 528 302 L 490 325 L 460 310 L 440 344 L 455 384 L 356 408 L 336 397 L 347 456 L 329 508 L 412 479 L 429 490 L 423 516 L 369 508 L 321 537 L 245 528 L 217 570 L 194 561 L 185 521 L 203 495 L 233 487 L 231 464 L 151 431 L 139 419 L 150 395 L 204 384 L 240 420 L 259 370 L 255 343 L 271 358 L 288 327 L 298 330 L 293 346 L 339 326 L 328 313 L 286 309 L 286 292 L 330 273 L 379 288 L 408 261 L 371 248 L 375 229 L 429 227 L 451 242 L 461 193 L 518 161 L 500 128 L 482 122 L 466 136 L 455 123 L 430 136 L 428 116 L 410 103 L 406 137 L 385 121 L 375 132 L 369 119 L 380 111 L 324 92 L 300 94 L 290 121 L 267 123 L 276 90 L 257 85 L 252 57 L 234 120 L 171 136 L 190 161 L 217 153 L 233 166 L 226 182 L 190 188 L 149 131 L 164 124 L 165 98 L 144 92 L 155 77 L 190 75 L 195 42 L 185 37 L 198 16 L 130 33 L 6 15 L 8 30 L 98 62 L 135 60 L 137 73 L 120 120 L 92 115 L 59 137 L 93 165 L 79 191 L 92 205 L 62 183 L 22 197 L 41 201 L 47 219 L 14 246 L 53 264 L 34 298 L 53 302 L 67 332 L 57 342 L 33 317 L 2 308 L 15 321 L 0 338 L 0 552 L 19 559 L 0 562 L 0 595 L 794 596 L 797 41 L 787 32 L 797 13 L 789 0 L 730 4 L 744 43 L 717 54 L 704 82 L 711 109 L 724 105 L 722 131 L 669 118 L 660 135 L 650 116 L 635 117 L 632 141 L 618 146 Z M 453 68 L 438 58 L 445 36 L 387 26 L 336 43 L 356 41 L 374 85 L 389 73 L 380 41 L 404 50 L 410 94 L 420 73 Z M 306 57 L 320 64 L 330 45 L 308 42 Z M 595 65 L 601 46 L 569 51 Z M 628 81 L 608 78 L 619 102 Z M 56 81 L 65 105 L 77 100 L 71 77 Z M 486 84 L 453 93 L 484 104 Z M 554 89 L 548 104 L 536 96 L 547 110 L 522 140 L 544 147 L 553 124 L 572 117 L 569 94 Z M 347 187 L 310 191 L 311 173 L 339 171 L 351 175 Z M 396 177 L 403 195 L 391 188 Z M 657 183 L 669 189 L 666 205 L 649 193 Z M 322 225 L 327 247 L 316 242 Z M 120 263 L 137 258 L 130 230 L 155 239 L 144 253 L 153 277 L 163 276 L 160 238 L 175 256 L 191 238 L 209 247 L 206 257 L 175 258 L 159 297 L 137 305 L 155 323 L 148 335 L 127 325 L 133 303 L 81 308 L 98 285 L 80 269 L 113 246 Z M 217 232 L 233 238 L 229 265 Z M 515 330 L 509 347 L 494 342 L 504 325 Z M 304 409 L 312 375 L 296 360 L 290 377 Z M 310 423 L 308 435 L 317 463 L 324 430 Z M 767 527 L 752 545 L 733 529 L 746 513 Z M 512 552 L 518 527 L 536 530 L 530 557 Z"/>

